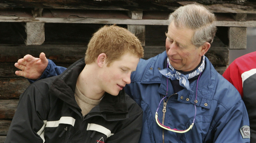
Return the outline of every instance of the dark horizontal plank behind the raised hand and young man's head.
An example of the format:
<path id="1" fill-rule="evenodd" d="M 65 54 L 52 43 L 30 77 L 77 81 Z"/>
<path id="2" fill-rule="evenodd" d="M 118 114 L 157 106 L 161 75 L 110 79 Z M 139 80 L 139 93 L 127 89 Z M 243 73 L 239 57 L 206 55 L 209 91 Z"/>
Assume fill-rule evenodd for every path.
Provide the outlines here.
<path id="1" fill-rule="evenodd" d="M 22 50 L 19 50 L 21 48 Z M 38 57 L 41 52 L 44 52 L 47 58 L 54 60 L 57 63 L 73 63 L 80 58 L 84 57 L 86 47 L 84 45 L 41 45 L 37 48 L 33 46 L 22 46 L 22 45 L 0 45 L 0 49 L 4 55 L 0 55 L 0 62 L 16 62 L 18 59 L 23 58 L 23 56 L 30 54 L 32 56 Z M 54 49 L 54 50 L 53 50 Z M 61 51 L 61 53 L 59 52 Z M 159 53 L 165 51 L 165 46 L 145 46 L 144 47 L 144 59 L 148 59 L 152 56 L 156 56 Z M 224 60 L 223 62 L 218 61 L 215 64 L 222 63 L 221 65 L 226 65 L 226 59 L 220 58 L 228 57 L 228 49 L 224 47 L 211 47 L 209 54 L 216 60 Z M 207 53 L 209 53 L 209 51 Z M 222 54 L 224 53 L 224 54 Z"/>

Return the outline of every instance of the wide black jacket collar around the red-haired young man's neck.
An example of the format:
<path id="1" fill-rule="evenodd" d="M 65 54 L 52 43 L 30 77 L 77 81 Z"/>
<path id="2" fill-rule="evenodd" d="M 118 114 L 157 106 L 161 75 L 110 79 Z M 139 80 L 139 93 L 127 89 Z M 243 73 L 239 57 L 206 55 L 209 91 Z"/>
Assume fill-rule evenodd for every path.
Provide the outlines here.
<path id="1" fill-rule="evenodd" d="M 53 81 L 49 89 L 50 93 L 68 103 L 72 109 L 75 107 L 73 109 L 75 112 L 77 112 L 77 109 L 81 112 L 75 101 L 75 85 L 84 66 L 84 58 L 76 61 Z M 80 114 L 79 112 L 77 113 Z M 92 116 L 102 116 L 109 121 L 127 119 L 128 109 L 124 89 L 117 96 L 106 93 L 99 105 L 94 107 L 87 115 L 88 118 Z"/>

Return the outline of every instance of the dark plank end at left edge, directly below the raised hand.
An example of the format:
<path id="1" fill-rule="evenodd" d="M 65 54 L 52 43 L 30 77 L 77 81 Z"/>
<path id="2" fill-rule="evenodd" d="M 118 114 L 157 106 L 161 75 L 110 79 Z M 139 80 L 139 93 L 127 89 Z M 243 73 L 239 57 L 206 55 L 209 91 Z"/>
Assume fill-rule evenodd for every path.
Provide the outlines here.
<path id="1" fill-rule="evenodd" d="M 29 85 L 25 78 L 0 78 L 0 99 L 19 99 Z"/>

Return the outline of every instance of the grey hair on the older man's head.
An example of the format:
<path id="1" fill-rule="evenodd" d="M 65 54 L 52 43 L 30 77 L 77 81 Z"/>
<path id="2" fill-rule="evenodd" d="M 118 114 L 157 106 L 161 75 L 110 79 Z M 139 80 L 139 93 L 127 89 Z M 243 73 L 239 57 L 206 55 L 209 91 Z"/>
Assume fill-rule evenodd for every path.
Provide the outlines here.
<path id="1" fill-rule="evenodd" d="M 217 31 L 215 15 L 198 4 L 190 4 L 176 9 L 169 15 L 169 24 L 174 22 L 176 27 L 194 30 L 192 44 L 200 47 L 204 42 L 212 43 Z"/>

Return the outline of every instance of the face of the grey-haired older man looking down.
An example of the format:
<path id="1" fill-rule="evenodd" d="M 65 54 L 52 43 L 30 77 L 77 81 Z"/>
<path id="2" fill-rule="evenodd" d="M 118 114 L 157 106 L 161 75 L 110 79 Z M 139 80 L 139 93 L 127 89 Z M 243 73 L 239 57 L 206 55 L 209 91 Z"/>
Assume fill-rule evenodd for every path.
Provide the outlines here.
<path id="1" fill-rule="evenodd" d="M 170 64 L 180 71 L 192 71 L 201 61 L 201 48 L 196 48 L 191 42 L 194 31 L 187 28 L 177 28 L 172 22 L 166 33 L 166 53 Z"/>

